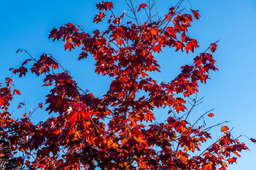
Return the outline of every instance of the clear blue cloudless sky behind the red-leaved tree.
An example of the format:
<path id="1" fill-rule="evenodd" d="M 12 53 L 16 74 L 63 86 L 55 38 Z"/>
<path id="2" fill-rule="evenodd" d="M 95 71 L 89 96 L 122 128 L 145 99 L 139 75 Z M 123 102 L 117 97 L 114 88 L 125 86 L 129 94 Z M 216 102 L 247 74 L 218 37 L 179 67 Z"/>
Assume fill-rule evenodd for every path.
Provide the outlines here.
<path id="1" fill-rule="evenodd" d="M 92 23 L 97 14 L 95 3 L 99 0 L 5 0 L 1 1 L 0 18 L 0 82 L 11 75 L 10 67 L 19 67 L 28 57 L 24 53 L 15 54 L 18 48 L 28 50 L 34 57 L 42 53 L 51 53 L 71 72 L 79 87 L 89 89 L 96 97 L 103 95 L 110 85 L 110 78 L 94 73 L 94 60 L 77 61 L 80 49 L 71 53 L 64 51 L 63 43 L 52 42 L 48 39 L 52 28 L 73 23 L 83 25 L 85 30 L 92 32 L 102 29 L 100 24 Z M 164 14 L 177 0 L 157 0 L 159 13 Z M 113 0 L 114 11 L 120 15 L 127 9 L 123 0 Z M 143 0 L 138 0 L 138 4 Z M 207 84 L 200 84 L 200 97 L 205 97 L 204 102 L 196 110 L 197 116 L 215 108 L 214 118 L 207 125 L 229 120 L 227 124 L 234 127 L 233 135 L 247 135 L 256 138 L 256 0 L 191 0 L 192 9 L 199 10 L 200 20 L 195 20 L 189 29 L 189 35 L 197 39 L 200 48 L 195 50 L 195 55 L 205 51 L 207 46 L 220 39 L 214 54 L 217 60 L 218 72 L 210 72 L 211 80 Z M 189 2 L 184 5 L 190 7 Z M 187 9 L 189 12 L 189 8 Z M 126 10 L 126 12 L 128 12 Z M 143 19 L 143 13 L 140 14 Z M 179 67 L 192 62 L 194 54 L 176 52 L 174 49 L 163 50 L 156 55 L 161 66 L 161 73 L 152 74 L 158 81 L 170 81 L 180 71 Z M 46 99 L 49 88 L 41 87 L 43 77 L 34 77 L 28 74 L 25 78 L 13 78 L 15 88 L 21 95 L 15 96 L 10 110 L 16 117 L 23 114 L 23 110 L 15 107 L 26 99 L 28 107 L 35 107 Z M 46 108 L 44 106 L 44 108 Z M 157 111 L 160 119 L 161 115 Z M 34 122 L 46 120 L 48 114 L 43 110 L 32 116 Z M 207 119 L 208 120 L 208 119 Z M 220 127 L 215 128 L 220 133 Z M 212 132 L 215 134 L 215 132 Z M 216 134 L 218 134 L 216 133 Z M 218 136 L 217 136 L 218 137 Z M 256 145 L 247 138 L 241 138 L 251 151 L 244 151 L 238 158 L 238 164 L 233 164 L 228 170 L 256 169 Z"/>

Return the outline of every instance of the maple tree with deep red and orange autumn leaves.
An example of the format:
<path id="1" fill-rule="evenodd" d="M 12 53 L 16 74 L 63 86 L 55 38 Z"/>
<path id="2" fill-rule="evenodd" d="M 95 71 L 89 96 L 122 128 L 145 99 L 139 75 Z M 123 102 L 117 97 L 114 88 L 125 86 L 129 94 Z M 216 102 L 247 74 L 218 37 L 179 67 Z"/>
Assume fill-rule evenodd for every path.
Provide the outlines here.
<path id="1" fill-rule="evenodd" d="M 197 98 L 199 83 L 206 83 L 209 71 L 218 70 L 212 56 L 218 41 L 192 64 L 180 67 L 174 80 L 158 83 L 148 75 L 160 72 L 154 54 L 164 47 L 185 49 L 186 53 L 199 47 L 187 35 L 190 23 L 200 17 L 199 11 L 191 9 L 193 16 L 185 13 L 183 0 L 179 0 L 161 18 L 156 11 L 153 15 L 154 0 L 138 7 L 131 0 L 125 2 L 131 14 L 123 12 L 120 17 L 114 14 L 112 2 L 96 4 L 99 13 L 93 22 L 100 24 L 108 16 L 107 30 L 89 34 L 82 26 L 67 23 L 49 35 L 53 41 L 65 42 L 65 50 L 81 46 L 78 60 L 92 55 L 95 72 L 113 77 L 102 97 L 82 90 L 52 55 L 36 59 L 24 49 L 17 51 L 29 58 L 10 70 L 19 77 L 28 70 L 44 76 L 43 86 L 51 86 L 45 111 L 59 115 L 38 124 L 31 122 L 31 115 L 44 108 L 38 103 L 35 110 L 14 119 L 8 107 L 20 91 L 12 90 L 12 77 L 6 78 L 5 87 L 0 88 L 0 170 L 225 170 L 240 157 L 238 152 L 248 149 L 238 140 L 242 135 L 233 138 L 232 129 L 223 125 L 227 121 L 199 125 L 203 117 L 214 116 L 212 110 L 195 122 L 188 121 L 202 100 Z M 137 13 L 142 12 L 147 17 L 139 22 Z M 122 23 L 124 17 L 131 21 Z M 192 102 L 190 108 L 188 102 Z M 24 105 L 20 102 L 17 108 Z M 166 121 L 158 122 L 154 109 L 165 107 L 169 108 Z M 209 130 L 219 125 L 220 138 L 206 149 L 201 147 L 211 138 Z"/>

